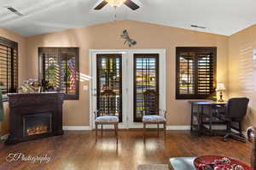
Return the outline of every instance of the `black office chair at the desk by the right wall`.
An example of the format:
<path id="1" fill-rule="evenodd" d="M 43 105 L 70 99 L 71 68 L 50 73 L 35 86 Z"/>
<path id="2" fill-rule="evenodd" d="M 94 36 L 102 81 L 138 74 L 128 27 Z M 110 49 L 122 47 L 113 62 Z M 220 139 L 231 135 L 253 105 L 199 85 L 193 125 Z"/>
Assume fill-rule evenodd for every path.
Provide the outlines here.
<path id="1" fill-rule="evenodd" d="M 216 108 L 216 116 L 220 120 L 226 122 L 227 125 L 227 133 L 224 136 L 224 141 L 227 141 L 229 138 L 232 138 L 239 140 L 241 142 L 246 142 L 246 139 L 241 132 L 241 121 L 243 117 L 247 114 L 248 103 L 249 99 L 247 98 L 232 98 L 229 99 L 227 105 L 224 108 L 224 112 L 220 112 Z M 236 126 L 234 126 L 234 123 Z M 238 131 L 239 133 L 232 132 L 232 128 Z"/>

